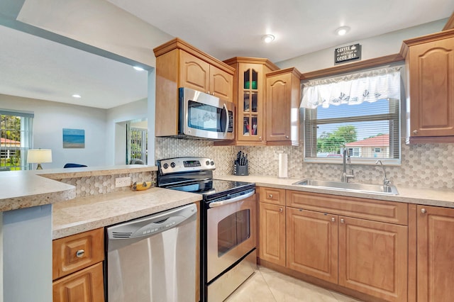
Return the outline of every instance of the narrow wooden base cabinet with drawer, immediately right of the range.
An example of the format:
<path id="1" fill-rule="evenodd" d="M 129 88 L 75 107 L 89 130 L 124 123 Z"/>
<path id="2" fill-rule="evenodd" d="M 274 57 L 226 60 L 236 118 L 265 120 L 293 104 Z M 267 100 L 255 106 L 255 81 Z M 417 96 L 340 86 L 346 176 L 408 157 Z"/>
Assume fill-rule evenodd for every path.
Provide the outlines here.
<path id="1" fill-rule="evenodd" d="M 285 190 L 259 188 L 259 258 L 285 266 Z"/>

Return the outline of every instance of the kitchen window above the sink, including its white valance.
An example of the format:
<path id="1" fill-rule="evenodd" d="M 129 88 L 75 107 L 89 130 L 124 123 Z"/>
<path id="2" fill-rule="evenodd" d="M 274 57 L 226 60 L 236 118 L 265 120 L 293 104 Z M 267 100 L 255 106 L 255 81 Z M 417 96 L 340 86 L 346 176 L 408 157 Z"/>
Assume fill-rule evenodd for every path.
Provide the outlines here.
<path id="1" fill-rule="evenodd" d="M 304 83 L 304 161 L 400 164 L 400 69 Z"/>

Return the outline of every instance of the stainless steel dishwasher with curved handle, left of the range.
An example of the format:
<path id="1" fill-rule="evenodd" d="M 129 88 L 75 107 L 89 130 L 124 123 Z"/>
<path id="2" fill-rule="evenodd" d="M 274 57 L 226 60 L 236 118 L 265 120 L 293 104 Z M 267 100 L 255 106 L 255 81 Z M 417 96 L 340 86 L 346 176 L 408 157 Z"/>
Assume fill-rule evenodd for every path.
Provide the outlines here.
<path id="1" fill-rule="evenodd" d="M 194 302 L 196 213 L 190 204 L 107 228 L 107 301 Z"/>

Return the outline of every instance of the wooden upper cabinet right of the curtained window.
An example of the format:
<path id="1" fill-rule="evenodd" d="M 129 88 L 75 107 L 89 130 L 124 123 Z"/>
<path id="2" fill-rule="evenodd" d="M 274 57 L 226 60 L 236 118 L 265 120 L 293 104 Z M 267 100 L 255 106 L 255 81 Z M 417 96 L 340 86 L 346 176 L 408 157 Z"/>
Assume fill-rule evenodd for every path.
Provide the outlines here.
<path id="1" fill-rule="evenodd" d="M 404 40 L 407 142 L 454 142 L 454 30 Z"/>

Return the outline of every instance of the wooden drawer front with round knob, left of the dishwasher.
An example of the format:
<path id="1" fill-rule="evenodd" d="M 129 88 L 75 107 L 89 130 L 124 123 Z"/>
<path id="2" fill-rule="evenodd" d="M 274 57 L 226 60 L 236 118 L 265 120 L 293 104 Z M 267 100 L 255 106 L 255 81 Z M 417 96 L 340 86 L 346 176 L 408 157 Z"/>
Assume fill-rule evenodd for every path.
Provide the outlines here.
<path id="1" fill-rule="evenodd" d="M 104 260 L 104 228 L 63 237 L 52 242 L 52 279 Z"/>

